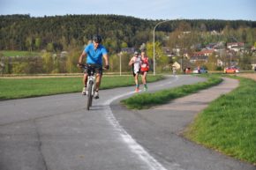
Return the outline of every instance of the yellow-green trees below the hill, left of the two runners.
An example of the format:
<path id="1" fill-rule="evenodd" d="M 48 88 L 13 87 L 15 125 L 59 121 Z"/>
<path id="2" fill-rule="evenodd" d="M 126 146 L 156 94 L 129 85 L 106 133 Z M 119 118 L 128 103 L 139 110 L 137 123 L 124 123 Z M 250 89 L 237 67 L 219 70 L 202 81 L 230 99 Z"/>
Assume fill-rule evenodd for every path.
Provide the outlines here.
<path id="1" fill-rule="evenodd" d="M 0 56 L 0 74 L 49 74 L 49 73 L 78 73 L 82 70 L 77 67 L 78 50 L 66 55 L 44 52 L 40 56 Z M 122 72 L 132 70 L 128 66 L 131 55 L 111 55 L 109 71 L 119 72 L 120 62 Z M 120 61 L 121 60 L 121 61 Z"/>

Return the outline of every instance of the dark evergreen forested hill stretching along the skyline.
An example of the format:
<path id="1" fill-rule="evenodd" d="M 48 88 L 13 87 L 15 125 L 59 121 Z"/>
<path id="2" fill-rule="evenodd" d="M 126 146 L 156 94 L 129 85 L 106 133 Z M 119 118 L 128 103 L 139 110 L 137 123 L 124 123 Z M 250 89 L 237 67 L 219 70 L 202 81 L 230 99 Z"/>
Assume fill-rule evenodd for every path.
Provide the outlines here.
<path id="1" fill-rule="evenodd" d="M 139 47 L 152 41 L 154 26 L 161 20 L 148 20 L 118 15 L 65 15 L 34 18 L 29 15 L 0 16 L 0 50 L 60 51 L 82 47 L 95 33 L 102 35 L 104 44 L 114 51 L 124 47 Z M 157 31 L 172 32 L 185 22 L 192 29 L 222 31 L 256 27 L 256 21 L 245 20 L 172 20 L 157 26 Z M 189 30 L 188 30 L 189 31 Z"/>

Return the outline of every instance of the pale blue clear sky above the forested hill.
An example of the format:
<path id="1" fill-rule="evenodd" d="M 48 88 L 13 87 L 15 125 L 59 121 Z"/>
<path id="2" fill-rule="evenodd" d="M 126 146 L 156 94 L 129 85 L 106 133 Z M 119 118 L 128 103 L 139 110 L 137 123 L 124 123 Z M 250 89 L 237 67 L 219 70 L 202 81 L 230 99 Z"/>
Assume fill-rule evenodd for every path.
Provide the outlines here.
<path id="1" fill-rule="evenodd" d="M 256 0 L 0 0 L 0 15 L 116 14 L 144 19 L 256 21 Z"/>

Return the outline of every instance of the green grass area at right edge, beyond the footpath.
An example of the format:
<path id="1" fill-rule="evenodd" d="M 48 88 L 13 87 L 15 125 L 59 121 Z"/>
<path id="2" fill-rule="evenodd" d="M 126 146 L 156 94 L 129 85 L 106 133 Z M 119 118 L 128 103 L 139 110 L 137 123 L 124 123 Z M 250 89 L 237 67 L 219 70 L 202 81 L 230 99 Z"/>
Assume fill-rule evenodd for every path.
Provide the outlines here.
<path id="1" fill-rule="evenodd" d="M 202 111 L 185 137 L 256 165 L 256 82 L 238 78 L 236 90 Z"/>

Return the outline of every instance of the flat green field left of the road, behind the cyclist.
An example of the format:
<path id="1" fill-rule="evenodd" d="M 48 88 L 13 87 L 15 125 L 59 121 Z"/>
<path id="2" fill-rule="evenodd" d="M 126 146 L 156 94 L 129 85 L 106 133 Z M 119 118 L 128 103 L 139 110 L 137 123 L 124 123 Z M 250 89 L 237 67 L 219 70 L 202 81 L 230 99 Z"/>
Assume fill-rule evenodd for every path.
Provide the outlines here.
<path id="1" fill-rule="evenodd" d="M 148 82 L 162 79 L 148 76 Z M 134 85 L 132 76 L 103 76 L 101 89 Z M 12 100 L 68 92 L 81 92 L 81 78 L 0 78 L 0 100 Z"/>

